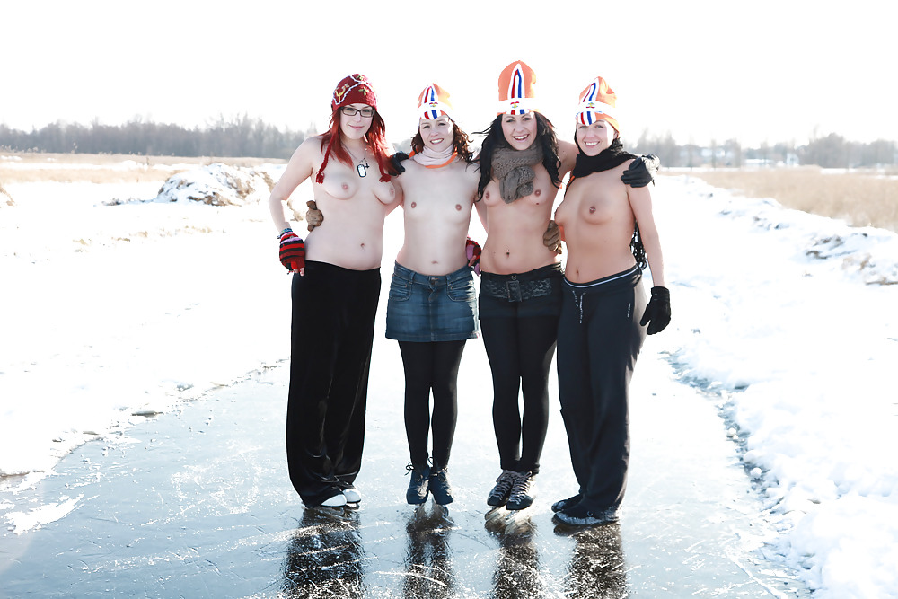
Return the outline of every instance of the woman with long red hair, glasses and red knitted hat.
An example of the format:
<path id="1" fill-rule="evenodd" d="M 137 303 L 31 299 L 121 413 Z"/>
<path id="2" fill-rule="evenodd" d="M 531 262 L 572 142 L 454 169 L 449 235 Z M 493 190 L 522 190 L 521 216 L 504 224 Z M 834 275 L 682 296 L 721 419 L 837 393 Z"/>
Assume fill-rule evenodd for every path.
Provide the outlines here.
<path id="1" fill-rule="evenodd" d="M 340 81 L 330 108 L 330 131 L 296 149 L 269 198 L 280 260 L 293 273 L 287 464 L 308 507 L 361 500 L 353 483 L 365 436 L 383 220 L 401 202 L 365 75 Z M 304 242 L 290 228 L 285 206 L 310 178 L 328 219 Z"/>

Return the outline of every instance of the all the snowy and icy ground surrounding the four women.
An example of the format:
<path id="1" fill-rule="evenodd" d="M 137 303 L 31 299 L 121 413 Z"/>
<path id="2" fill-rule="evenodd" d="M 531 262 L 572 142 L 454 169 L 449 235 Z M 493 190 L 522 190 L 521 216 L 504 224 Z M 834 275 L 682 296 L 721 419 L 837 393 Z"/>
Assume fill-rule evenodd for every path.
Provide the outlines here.
<path id="1" fill-rule="evenodd" d="M 0 478 L 0 595 L 7 584 L 26 593 L 25 580 L 35 595 L 65 595 L 59 589 L 75 583 L 46 574 L 44 561 L 97 573 L 76 581 L 84 592 L 101 580 L 136 589 L 125 581 L 132 571 L 150 595 L 167 595 L 158 585 L 180 577 L 214 587 L 200 572 L 214 565 L 249 581 L 235 586 L 240 595 L 277 595 L 270 581 L 286 578 L 269 562 L 283 561 L 304 518 L 282 463 L 286 392 L 275 373 L 283 368 L 271 381 L 240 383 L 285 366 L 289 354 L 289 277 L 277 263 L 267 207 L 255 196 L 226 207 L 136 201 L 157 194 L 146 184 L 4 187 L 15 205 L 0 203 L 0 474 L 16 476 Z M 653 197 L 674 320 L 648 339 L 634 378 L 633 462 L 618 527 L 628 588 L 636 596 L 735 593 L 697 582 L 717 571 L 743 572 L 733 588 L 744 583 L 749 596 L 752 585 L 785 592 L 797 576 L 821 599 L 898 597 L 898 235 L 739 198 L 688 176 L 661 178 Z M 482 241 L 477 227 L 475 219 L 471 235 Z M 393 213 L 384 228 L 382 310 L 400 243 Z M 444 577 L 418 559 L 413 575 L 400 566 L 411 517 L 401 501 L 402 368 L 396 344 L 383 339 L 383 312 L 377 327 L 359 478 L 365 503 L 340 525 L 362 539 L 366 588 L 398 596 L 398 578 Z M 544 595 L 561 593 L 584 535 L 556 535 L 550 521 L 551 501 L 574 490 L 554 374 L 540 495 L 529 521 L 513 523 L 514 539 L 483 520 L 497 451 L 480 339 L 469 342 L 461 376 L 451 465 L 458 498 L 453 524 L 436 535 L 448 539 L 456 595 L 489 594 L 494 579 L 512 588 L 518 576 L 541 581 Z M 223 391 L 207 395 L 216 389 Z M 228 392 L 243 399 L 223 399 Z M 241 426 L 271 418 L 266 432 L 225 432 L 225 414 L 243 403 L 259 411 L 245 413 Z M 687 409 L 693 404 L 703 408 Z M 710 449 L 694 445 L 705 436 Z M 205 445 L 213 438 L 217 445 Z M 721 439 L 729 441 L 713 445 Z M 170 513 L 175 507 L 179 514 Z M 427 532 L 427 521 L 413 524 L 430 555 L 443 537 Z M 60 540 L 74 551 L 70 559 Z M 175 547 L 181 564 L 205 565 L 154 570 L 172 563 L 164 551 Z M 497 567 L 533 555 L 538 577 L 533 568 Z M 149 583 L 145 564 L 161 577 Z M 48 588 L 38 589 L 34 581 L 44 580 Z"/>

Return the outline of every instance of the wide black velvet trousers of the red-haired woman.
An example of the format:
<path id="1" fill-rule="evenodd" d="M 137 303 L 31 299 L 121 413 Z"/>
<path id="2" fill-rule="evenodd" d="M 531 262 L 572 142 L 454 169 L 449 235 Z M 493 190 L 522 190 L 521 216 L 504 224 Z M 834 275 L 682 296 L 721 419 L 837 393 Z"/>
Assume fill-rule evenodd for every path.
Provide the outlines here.
<path id="1" fill-rule="evenodd" d="M 306 505 L 356 480 L 380 288 L 380 269 L 308 261 L 293 277 L 286 457 Z"/>

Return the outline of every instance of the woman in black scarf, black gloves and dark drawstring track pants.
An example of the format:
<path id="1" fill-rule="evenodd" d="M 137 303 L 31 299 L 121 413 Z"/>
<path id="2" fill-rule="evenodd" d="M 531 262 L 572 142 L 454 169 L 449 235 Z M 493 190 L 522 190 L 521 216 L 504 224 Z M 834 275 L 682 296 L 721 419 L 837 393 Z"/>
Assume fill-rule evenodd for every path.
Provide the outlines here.
<path id="1" fill-rule="evenodd" d="M 629 382 L 646 334 L 664 330 L 671 318 L 651 193 L 621 181 L 637 156 L 623 149 L 615 111 L 615 93 L 596 77 L 580 94 L 579 153 L 555 212 L 568 248 L 559 399 L 579 490 L 552 510 L 571 525 L 618 519 L 629 463 Z"/>

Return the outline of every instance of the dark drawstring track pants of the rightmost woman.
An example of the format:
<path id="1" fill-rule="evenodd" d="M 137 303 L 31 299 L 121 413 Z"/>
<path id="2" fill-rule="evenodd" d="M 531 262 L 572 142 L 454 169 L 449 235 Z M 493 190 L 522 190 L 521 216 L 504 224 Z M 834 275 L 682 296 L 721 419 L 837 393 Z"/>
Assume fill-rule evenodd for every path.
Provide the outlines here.
<path id="1" fill-rule="evenodd" d="M 559 400 L 570 461 L 593 510 L 619 507 L 629 466 L 629 383 L 646 339 L 642 274 L 565 281 L 558 341 Z"/>

